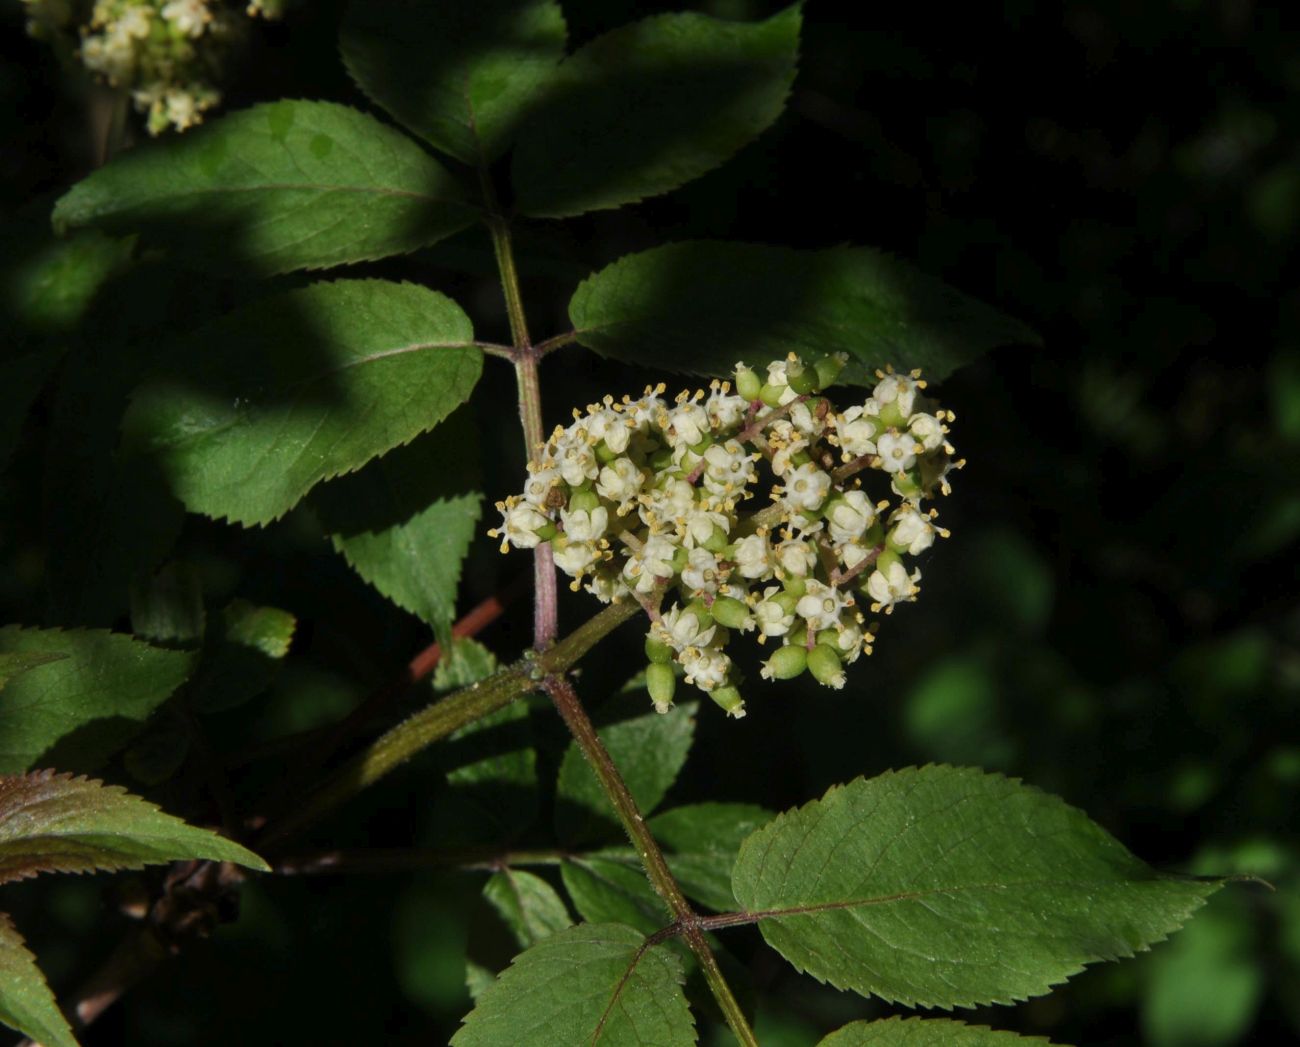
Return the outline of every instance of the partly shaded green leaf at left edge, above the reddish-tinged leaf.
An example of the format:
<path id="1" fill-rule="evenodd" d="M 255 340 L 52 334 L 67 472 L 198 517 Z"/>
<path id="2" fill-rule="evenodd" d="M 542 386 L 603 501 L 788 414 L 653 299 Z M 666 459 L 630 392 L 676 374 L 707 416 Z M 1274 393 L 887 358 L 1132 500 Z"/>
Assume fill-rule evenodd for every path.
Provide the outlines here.
<path id="1" fill-rule="evenodd" d="M 194 657 L 101 630 L 0 628 L 0 656 L 55 656 L 0 691 L 0 773 L 27 770 L 58 743 L 92 769 L 136 735 L 190 675 Z"/>

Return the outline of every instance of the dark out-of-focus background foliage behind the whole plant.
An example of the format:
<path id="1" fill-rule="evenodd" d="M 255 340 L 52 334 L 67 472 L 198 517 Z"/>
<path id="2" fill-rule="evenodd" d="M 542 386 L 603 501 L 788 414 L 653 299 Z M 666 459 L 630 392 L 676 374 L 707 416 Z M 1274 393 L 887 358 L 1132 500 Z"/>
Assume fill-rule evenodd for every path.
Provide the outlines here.
<path id="1" fill-rule="evenodd" d="M 280 96 L 364 107 L 337 59 L 339 7 L 320 0 L 259 26 L 226 108 Z M 564 7 L 571 42 L 673 9 Z M 754 18 L 776 7 L 698 9 Z M 0 194 L 4 235 L 17 237 L 88 169 L 95 103 L 23 36 L 20 7 L 4 12 Z M 536 337 L 564 329 L 568 294 L 593 268 L 686 237 L 880 246 L 1043 334 L 1041 350 L 993 352 L 944 384 L 970 464 L 944 505 L 953 537 L 922 564 L 920 601 L 885 622 L 846 691 L 751 684 L 745 721 L 702 710 L 670 796 L 780 809 L 859 774 L 971 763 L 1060 793 L 1157 866 L 1252 873 L 1275 887 L 1225 891 L 1149 956 L 974 1020 L 1086 1044 L 1218 1047 L 1300 1033 L 1300 52 L 1282 21 L 1245 0 L 1009 0 L 941 17 L 924 5 L 846 16 L 812 3 L 789 109 L 759 142 L 667 198 L 519 233 Z M 0 259 L 10 299 L 21 260 L 13 250 Z M 482 336 L 504 336 L 481 230 L 370 268 L 454 294 Z M 91 303 L 78 330 L 57 333 L 75 349 L 64 381 L 101 382 L 124 369 L 114 350 L 129 338 L 194 326 L 247 293 L 138 271 Z M 18 313 L 12 302 L 5 311 Z M 476 423 L 495 498 L 523 470 L 504 406 L 512 377 L 488 372 Z M 549 419 L 659 378 L 675 385 L 566 349 L 543 371 Z M 168 555 L 188 564 L 209 609 L 238 596 L 294 613 L 292 653 L 270 689 L 208 722 L 242 809 L 256 812 L 280 770 L 254 758 L 257 747 L 343 715 L 429 637 L 350 572 L 307 509 L 240 532 L 182 522 L 155 492 L 134 502 L 124 533 L 78 559 L 87 540 L 69 507 L 103 480 L 96 455 L 116 441 L 105 402 L 83 446 L 61 445 L 48 393 L 17 437 L 0 492 L 0 616 L 127 627 L 126 580 L 100 562 L 127 540 L 136 566 Z M 528 570 L 480 540 L 462 609 Z M 590 610 L 573 597 L 563 622 Z M 528 618 L 517 601 L 481 639 L 512 658 Z M 589 700 L 618 691 L 638 646 L 627 630 L 589 659 Z M 629 708 L 627 696 L 611 701 Z M 532 722 L 541 780 L 554 782 L 563 734 L 543 708 Z M 442 767 L 437 753 L 416 761 L 321 826 L 316 843 L 446 842 Z M 104 774 L 143 788 L 129 766 Z M 168 788 L 156 795 L 202 813 L 202 775 L 188 763 Z M 549 823 L 521 842 L 549 842 Z M 481 886 L 481 874 L 433 871 L 261 878 L 237 922 L 166 965 L 84 1042 L 445 1042 L 469 1005 L 467 914 Z M 57 990 L 127 926 L 121 890 L 68 878 L 6 888 Z M 731 934 L 763 999 L 764 1044 L 810 1044 L 889 1011 L 796 975 L 751 930 Z"/>

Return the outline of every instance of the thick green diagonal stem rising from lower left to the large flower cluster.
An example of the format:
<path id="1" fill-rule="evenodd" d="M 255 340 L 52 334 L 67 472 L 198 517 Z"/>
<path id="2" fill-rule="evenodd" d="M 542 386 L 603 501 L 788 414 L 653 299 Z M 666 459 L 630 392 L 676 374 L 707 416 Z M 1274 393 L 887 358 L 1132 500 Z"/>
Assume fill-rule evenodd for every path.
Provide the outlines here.
<path id="1" fill-rule="evenodd" d="M 550 650 L 532 658 L 524 658 L 524 661 L 503 669 L 481 683 L 456 691 L 421 709 L 410 719 L 377 737 L 361 753 L 332 774 L 298 810 L 272 825 L 257 842 L 257 847 L 265 849 L 292 836 L 452 731 L 537 691 L 540 682 L 547 674 L 568 670 L 598 640 L 634 616 L 640 610 L 633 601 L 611 603 Z"/>

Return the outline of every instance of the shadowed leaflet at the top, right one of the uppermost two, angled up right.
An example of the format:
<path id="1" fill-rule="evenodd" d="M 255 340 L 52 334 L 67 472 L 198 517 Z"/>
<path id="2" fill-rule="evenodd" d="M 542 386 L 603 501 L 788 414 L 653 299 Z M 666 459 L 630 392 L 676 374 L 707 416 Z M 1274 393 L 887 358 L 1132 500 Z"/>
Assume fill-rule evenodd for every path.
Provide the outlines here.
<path id="1" fill-rule="evenodd" d="M 766 22 L 659 14 L 559 68 L 519 134 L 519 209 L 559 219 L 685 185 L 757 138 L 794 81 L 800 9 Z"/>

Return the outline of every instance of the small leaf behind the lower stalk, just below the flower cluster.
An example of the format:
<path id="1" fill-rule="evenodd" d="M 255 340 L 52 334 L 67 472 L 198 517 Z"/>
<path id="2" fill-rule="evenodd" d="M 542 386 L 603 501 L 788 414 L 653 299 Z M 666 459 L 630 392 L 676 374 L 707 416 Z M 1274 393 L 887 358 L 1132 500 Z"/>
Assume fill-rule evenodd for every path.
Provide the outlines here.
<path id="1" fill-rule="evenodd" d="M 696 736 L 696 702 L 685 702 L 662 715 L 647 713 L 599 728 L 642 814 L 659 806 L 686 762 Z M 555 800 L 555 827 L 562 840 L 621 835 L 614 809 L 577 744 L 569 744 L 564 753 Z"/>

